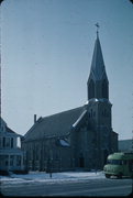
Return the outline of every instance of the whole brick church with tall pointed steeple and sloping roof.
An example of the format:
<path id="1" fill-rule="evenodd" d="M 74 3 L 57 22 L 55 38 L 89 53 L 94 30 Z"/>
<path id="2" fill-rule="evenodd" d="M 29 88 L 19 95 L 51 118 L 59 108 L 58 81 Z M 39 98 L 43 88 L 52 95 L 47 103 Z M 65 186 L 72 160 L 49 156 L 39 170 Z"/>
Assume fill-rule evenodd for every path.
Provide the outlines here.
<path id="1" fill-rule="evenodd" d="M 81 107 L 38 119 L 34 116 L 34 124 L 21 140 L 27 169 L 47 173 L 102 169 L 107 156 L 118 151 L 98 31 L 87 96 Z"/>

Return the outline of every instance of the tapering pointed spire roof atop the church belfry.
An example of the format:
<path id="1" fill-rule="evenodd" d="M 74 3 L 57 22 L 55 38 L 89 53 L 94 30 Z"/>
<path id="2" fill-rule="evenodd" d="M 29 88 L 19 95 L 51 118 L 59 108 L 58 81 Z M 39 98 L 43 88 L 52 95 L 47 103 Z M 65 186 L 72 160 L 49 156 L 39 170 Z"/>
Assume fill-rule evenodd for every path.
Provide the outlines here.
<path id="1" fill-rule="evenodd" d="M 90 73 L 92 73 L 95 80 L 107 78 L 104 61 L 103 61 L 101 45 L 98 35 L 95 43 Z"/>

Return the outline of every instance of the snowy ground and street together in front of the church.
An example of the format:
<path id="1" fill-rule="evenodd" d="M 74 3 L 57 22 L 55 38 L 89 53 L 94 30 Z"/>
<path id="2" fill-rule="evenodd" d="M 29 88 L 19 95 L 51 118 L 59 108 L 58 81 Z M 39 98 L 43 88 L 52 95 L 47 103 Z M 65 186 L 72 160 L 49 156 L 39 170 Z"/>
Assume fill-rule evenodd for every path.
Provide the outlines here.
<path id="1" fill-rule="evenodd" d="M 64 172 L 0 176 L 4 196 L 126 196 L 132 180 L 107 179 L 103 172 Z"/>

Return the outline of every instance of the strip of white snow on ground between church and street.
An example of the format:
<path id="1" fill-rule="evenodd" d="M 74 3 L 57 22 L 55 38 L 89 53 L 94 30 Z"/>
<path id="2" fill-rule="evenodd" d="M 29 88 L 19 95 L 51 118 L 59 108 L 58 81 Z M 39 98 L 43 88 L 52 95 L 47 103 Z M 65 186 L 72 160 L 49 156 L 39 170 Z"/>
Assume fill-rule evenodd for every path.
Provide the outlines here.
<path id="1" fill-rule="evenodd" d="M 45 172 L 30 172 L 26 175 L 12 174 L 11 176 L 0 176 L 1 183 L 57 183 L 66 180 L 82 180 L 82 179 L 98 179 L 104 178 L 103 172 L 63 172 L 63 173 L 52 173 L 52 177 Z"/>

